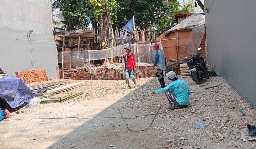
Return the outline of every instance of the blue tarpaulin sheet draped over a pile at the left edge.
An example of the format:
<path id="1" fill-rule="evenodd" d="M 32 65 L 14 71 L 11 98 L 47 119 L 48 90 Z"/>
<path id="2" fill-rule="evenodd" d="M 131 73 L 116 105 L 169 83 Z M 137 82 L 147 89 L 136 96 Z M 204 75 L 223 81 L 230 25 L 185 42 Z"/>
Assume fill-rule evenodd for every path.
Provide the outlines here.
<path id="1" fill-rule="evenodd" d="M 16 108 L 22 104 L 27 107 L 34 95 L 20 78 L 4 76 L 0 78 L 0 98 Z"/>

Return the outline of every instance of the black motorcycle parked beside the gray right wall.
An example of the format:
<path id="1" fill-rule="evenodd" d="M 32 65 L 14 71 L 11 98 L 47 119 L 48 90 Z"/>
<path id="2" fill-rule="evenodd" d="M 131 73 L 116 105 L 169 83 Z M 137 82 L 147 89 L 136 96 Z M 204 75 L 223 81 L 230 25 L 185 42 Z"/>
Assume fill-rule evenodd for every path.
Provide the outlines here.
<path id="1" fill-rule="evenodd" d="M 197 50 L 201 50 L 201 48 L 198 48 Z M 207 70 L 208 67 L 206 66 L 206 60 L 201 57 L 202 53 L 197 53 L 194 56 L 191 55 L 191 60 L 187 62 L 187 65 L 189 67 L 188 73 L 190 74 L 192 80 L 195 81 L 197 84 L 202 84 L 203 78 L 210 78 Z M 185 58 L 187 58 L 187 56 Z"/>

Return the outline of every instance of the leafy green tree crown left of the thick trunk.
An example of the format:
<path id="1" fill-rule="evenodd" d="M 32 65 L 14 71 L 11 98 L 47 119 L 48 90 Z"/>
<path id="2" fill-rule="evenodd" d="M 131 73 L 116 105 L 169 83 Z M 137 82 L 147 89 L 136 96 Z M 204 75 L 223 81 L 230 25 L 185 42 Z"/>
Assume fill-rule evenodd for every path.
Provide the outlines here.
<path id="1" fill-rule="evenodd" d="M 87 28 L 94 13 L 88 0 L 55 0 L 53 9 L 61 11 L 68 30 Z"/>

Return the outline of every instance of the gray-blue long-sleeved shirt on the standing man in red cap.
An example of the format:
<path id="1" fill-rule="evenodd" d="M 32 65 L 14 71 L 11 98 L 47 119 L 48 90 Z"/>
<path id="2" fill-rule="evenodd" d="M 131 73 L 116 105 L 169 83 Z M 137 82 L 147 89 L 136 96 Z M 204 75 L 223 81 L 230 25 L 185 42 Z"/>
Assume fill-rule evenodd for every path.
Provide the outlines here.
<path id="1" fill-rule="evenodd" d="M 166 58 L 163 50 L 157 50 L 155 53 L 155 62 L 154 66 L 156 69 L 165 70 Z"/>

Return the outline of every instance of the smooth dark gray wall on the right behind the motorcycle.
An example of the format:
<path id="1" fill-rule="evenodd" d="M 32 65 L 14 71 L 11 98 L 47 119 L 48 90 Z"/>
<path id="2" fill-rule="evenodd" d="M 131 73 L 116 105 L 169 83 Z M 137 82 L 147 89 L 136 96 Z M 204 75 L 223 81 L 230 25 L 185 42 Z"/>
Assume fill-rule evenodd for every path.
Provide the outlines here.
<path id="1" fill-rule="evenodd" d="M 205 8 L 213 0 L 204 0 Z M 215 0 L 206 13 L 208 61 L 256 105 L 256 0 Z"/>

